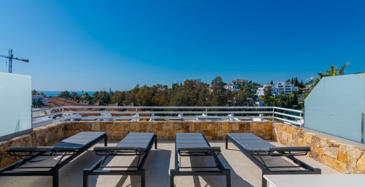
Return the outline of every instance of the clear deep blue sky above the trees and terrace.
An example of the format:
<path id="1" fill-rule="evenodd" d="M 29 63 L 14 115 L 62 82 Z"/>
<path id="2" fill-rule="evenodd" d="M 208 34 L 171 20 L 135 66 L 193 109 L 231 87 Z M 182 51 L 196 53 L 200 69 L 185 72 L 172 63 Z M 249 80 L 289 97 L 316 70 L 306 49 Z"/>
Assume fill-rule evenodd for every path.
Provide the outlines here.
<path id="1" fill-rule="evenodd" d="M 2 0 L 0 48 L 37 90 L 303 79 L 365 70 L 364 1 Z M 7 54 L 7 50 L 0 50 Z M 0 58 L 0 71 L 7 71 Z"/>

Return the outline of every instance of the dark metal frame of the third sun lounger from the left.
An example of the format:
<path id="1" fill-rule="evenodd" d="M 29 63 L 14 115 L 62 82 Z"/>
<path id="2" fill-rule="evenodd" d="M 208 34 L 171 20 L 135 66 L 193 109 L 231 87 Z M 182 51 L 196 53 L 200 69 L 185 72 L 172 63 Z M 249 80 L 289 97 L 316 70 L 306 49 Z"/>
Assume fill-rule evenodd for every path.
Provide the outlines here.
<path id="1" fill-rule="evenodd" d="M 209 144 L 208 140 L 205 138 L 205 136 L 203 135 L 205 141 L 207 141 L 207 144 L 209 145 L 209 147 L 211 147 L 211 145 Z M 185 152 L 185 151 L 184 151 Z M 202 152 L 201 152 L 202 153 Z M 218 153 L 219 154 L 219 153 Z M 203 175 L 225 175 L 226 176 L 226 183 L 227 183 L 227 187 L 231 187 L 231 170 L 230 169 L 226 169 L 224 168 L 223 164 L 220 162 L 218 155 L 215 152 L 212 152 L 212 154 L 210 155 L 201 155 L 199 154 L 199 152 L 197 152 L 196 155 L 191 154 L 191 155 L 180 155 L 180 151 L 177 151 L 176 149 L 176 138 L 175 138 L 175 169 L 170 170 L 170 187 L 174 187 L 174 176 L 203 176 Z M 215 165 L 216 166 L 206 166 L 206 167 L 181 167 L 181 163 L 178 161 L 178 155 L 181 156 L 213 156 L 214 160 L 215 160 Z M 181 158 L 180 158 L 181 160 Z M 180 171 L 180 168 L 182 169 L 187 169 L 187 168 L 191 168 L 191 169 L 195 169 L 195 168 L 217 168 L 218 171 L 207 171 L 207 170 L 196 170 L 196 171 Z"/>

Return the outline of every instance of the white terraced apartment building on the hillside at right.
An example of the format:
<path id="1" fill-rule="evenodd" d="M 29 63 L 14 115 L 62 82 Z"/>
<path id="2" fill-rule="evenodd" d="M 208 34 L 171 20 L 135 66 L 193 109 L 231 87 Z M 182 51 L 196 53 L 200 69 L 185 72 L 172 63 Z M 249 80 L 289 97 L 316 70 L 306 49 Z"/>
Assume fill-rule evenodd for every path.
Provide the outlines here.
<path id="1" fill-rule="evenodd" d="M 278 82 L 274 85 L 266 84 L 264 85 L 264 87 L 257 88 L 257 96 L 264 96 L 265 87 L 267 86 L 271 86 L 272 94 L 274 97 L 278 96 L 279 94 L 291 94 L 294 91 L 298 91 L 298 87 L 295 87 L 290 82 Z"/>

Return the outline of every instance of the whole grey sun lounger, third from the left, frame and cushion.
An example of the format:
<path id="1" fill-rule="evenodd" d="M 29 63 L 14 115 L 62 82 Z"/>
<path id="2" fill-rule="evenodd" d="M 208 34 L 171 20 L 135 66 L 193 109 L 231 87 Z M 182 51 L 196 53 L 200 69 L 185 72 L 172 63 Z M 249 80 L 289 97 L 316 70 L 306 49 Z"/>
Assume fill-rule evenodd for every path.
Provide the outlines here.
<path id="1" fill-rule="evenodd" d="M 208 140 L 201 133 L 177 133 L 175 137 L 175 169 L 170 170 L 170 187 L 174 187 L 174 176 L 199 176 L 199 175 L 225 175 L 227 187 L 231 186 L 231 171 L 223 167 L 218 159 L 220 147 L 211 147 Z M 212 156 L 215 166 L 183 167 L 178 156 Z M 193 171 L 180 171 L 180 169 L 194 169 Z M 196 170 L 197 168 L 203 170 Z M 211 169 L 218 170 L 211 170 Z M 205 169 L 205 170 L 204 170 Z"/>

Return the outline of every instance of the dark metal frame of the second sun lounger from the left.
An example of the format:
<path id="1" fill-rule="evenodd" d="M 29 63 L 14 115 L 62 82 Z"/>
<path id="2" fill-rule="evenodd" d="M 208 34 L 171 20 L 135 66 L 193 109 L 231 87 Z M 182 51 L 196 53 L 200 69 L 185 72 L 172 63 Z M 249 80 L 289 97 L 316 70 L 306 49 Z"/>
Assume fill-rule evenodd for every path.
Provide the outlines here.
<path id="1" fill-rule="evenodd" d="M 148 148 L 144 152 L 139 151 L 111 151 L 105 154 L 99 154 L 97 155 L 103 155 L 101 159 L 99 159 L 92 167 L 84 169 L 84 182 L 83 186 L 88 187 L 88 176 L 89 175 L 139 175 L 141 176 L 141 187 L 146 186 L 146 179 L 145 179 L 145 169 L 142 169 L 143 164 L 145 163 L 145 160 L 148 156 L 148 153 L 150 152 L 153 144 L 155 144 L 155 149 L 157 149 L 157 135 L 154 135 Z M 144 155 L 141 162 L 139 161 L 141 158 L 141 155 Z M 138 162 L 136 166 L 102 166 L 104 161 L 109 156 L 138 156 Z M 99 168 L 137 168 L 136 170 L 98 170 Z"/>

